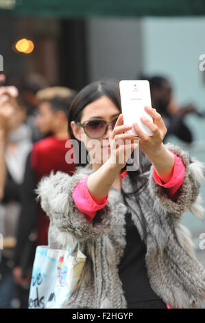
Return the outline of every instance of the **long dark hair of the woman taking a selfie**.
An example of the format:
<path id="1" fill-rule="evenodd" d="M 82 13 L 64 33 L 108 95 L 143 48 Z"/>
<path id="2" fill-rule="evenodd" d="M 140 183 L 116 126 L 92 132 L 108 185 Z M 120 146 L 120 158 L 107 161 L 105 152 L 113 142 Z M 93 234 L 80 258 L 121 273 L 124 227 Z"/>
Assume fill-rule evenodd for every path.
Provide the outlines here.
<path id="1" fill-rule="evenodd" d="M 120 93 L 119 93 L 119 81 L 117 80 L 101 80 L 99 82 L 93 82 L 86 87 L 84 87 L 77 95 L 75 96 L 73 102 L 71 103 L 71 107 L 68 113 L 68 120 L 69 120 L 69 134 L 71 139 L 75 139 L 73 135 L 73 131 L 71 129 L 71 121 L 80 121 L 82 117 L 82 112 L 86 105 L 90 104 L 91 102 L 101 98 L 102 96 L 107 96 L 119 109 L 121 112 L 121 100 L 120 100 Z M 79 142 L 80 151 L 77 152 L 79 155 L 79 161 L 81 160 L 81 151 L 82 151 L 82 143 Z M 83 144 L 84 145 L 84 144 Z M 86 149 L 86 148 L 84 148 Z M 84 152 L 86 153 L 86 152 Z M 133 158 L 133 153 L 131 155 Z M 86 159 L 87 160 L 87 159 Z M 77 164 L 78 166 L 85 166 L 85 164 Z M 125 170 L 127 165 L 121 170 Z M 130 164 L 129 164 L 130 166 Z M 147 170 L 149 170 L 151 166 L 151 162 L 145 156 L 142 151 L 139 151 L 139 168 L 135 171 L 128 171 L 128 175 L 130 177 L 130 181 L 132 183 L 132 187 L 134 188 L 133 192 L 123 192 L 122 194 L 125 200 L 125 204 L 128 205 L 126 197 L 134 196 L 136 197 L 136 203 L 138 204 L 139 210 L 141 210 L 141 203 L 138 201 L 138 195 L 142 192 L 142 190 L 147 185 L 147 176 L 143 175 Z M 130 206 L 130 205 L 129 205 Z M 141 225 L 143 228 L 143 240 L 145 240 L 146 234 L 146 223 L 145 218 L 143 216 L 143 212 L 141 210 L 141 216 L 138 216 L 138 219 L 141 221 Z"/>

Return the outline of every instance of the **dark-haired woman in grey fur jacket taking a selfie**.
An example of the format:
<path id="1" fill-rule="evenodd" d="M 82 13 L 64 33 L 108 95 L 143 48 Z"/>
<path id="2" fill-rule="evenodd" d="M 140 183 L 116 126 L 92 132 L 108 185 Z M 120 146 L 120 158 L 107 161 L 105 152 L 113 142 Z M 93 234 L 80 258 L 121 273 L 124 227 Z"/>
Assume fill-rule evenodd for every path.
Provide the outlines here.
<path id="1" fill-rule="evenodd" d="M 71 104 L 69 133 L 87 153 L 94 139 L 99 149 L 72 177 L 57 172 L 38 186 L 50 217 L 50 247 L 79 241 L 87 256 L 65 308 L 199 308 L 205 298 L 205 271 L 180 224 L 188 209 L 200 216 L 204 164 L 179 146 L 164 145 L 160 114 L 145 109 L 153 123 L 142 121 L 152 136 L 136 123 L 123 124 L 117 83 L 84 87 Z M 126 133 L 132 126 L 137 137 Z M 133 171 L 126 166 L 136 139 L 140 167 Z"/>

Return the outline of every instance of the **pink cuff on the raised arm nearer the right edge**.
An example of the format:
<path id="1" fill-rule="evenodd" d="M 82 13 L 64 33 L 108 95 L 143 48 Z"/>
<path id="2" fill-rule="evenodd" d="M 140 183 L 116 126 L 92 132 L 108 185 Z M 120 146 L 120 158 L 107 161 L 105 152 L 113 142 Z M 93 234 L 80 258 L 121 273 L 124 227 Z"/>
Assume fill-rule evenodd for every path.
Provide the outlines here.
<path id="1" fill-rule="evenodd" d="M 158 177 L 156 170 L 154 168 L 153 168 L 153 176 L 154 176 L 154 180 L 156 181 L 156 183 L 158 183 L 158 185 L 164 188 L 167 188 L 166 190 L 167 196 L 170 199 L 177 201 L 178 195 L 179 195 L 178 189 L 180 188 L 184 180 L 185 166 L 182 162 L 182 159 L 180 159 L 178 155 L 173 153 L 173 151 L 171 151 L 171 153 L 174 156 L 174 166 L 172 170 L 171 179 L 167 183 L 162 183 L 160 177 Z"/>

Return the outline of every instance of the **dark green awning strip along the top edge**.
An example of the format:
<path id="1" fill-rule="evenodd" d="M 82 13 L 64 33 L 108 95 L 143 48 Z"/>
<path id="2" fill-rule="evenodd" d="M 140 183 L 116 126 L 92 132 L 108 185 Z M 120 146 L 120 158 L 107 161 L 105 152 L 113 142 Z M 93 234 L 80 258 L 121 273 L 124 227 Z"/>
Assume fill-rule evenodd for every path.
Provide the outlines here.
<path id="1" fill-rule="evenodd" d="M 15 16 L 203 16 L 204 0 L 0 0 L 0 14 Z"/>

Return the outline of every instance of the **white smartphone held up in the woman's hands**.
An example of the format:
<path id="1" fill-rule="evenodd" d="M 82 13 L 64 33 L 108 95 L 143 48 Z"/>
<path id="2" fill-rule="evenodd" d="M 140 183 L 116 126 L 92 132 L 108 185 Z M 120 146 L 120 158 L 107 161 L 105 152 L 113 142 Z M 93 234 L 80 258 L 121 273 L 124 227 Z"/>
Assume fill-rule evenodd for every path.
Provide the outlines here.
<path id="1" fill-rule="evenodd" d="M 138 124 L 146 135 L 153 135 L 152 131 L 142 121 L 145 116 L 153 122 L 152 116 L 145 111 L 145 107 L 152 107 L 149 81 L 148 80 L 121 80 L 119 82 L 121 96 L 121 109 L 123 113 L 123 124 Z M 132 128 L 126 133 L 136 133 Z"/>

